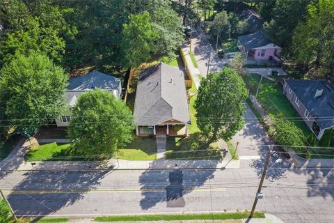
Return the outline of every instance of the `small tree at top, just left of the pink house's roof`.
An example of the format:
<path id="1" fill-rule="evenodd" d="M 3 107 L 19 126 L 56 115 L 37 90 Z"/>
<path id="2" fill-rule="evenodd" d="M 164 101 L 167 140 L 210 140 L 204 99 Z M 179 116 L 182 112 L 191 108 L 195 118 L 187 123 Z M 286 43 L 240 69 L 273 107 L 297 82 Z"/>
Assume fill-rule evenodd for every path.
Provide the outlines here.
<path id="1" fill-rule="evenodd" d="M 228 13 L 221 11 L 214 17 L 209 33 L 217 36 L 219 33 L 219 38 L 227 39 L 230 37 L 230 22 L 228 20 Z"/>

